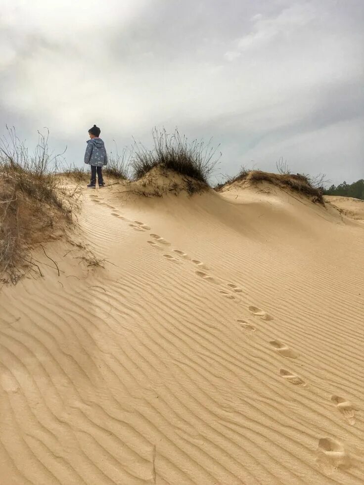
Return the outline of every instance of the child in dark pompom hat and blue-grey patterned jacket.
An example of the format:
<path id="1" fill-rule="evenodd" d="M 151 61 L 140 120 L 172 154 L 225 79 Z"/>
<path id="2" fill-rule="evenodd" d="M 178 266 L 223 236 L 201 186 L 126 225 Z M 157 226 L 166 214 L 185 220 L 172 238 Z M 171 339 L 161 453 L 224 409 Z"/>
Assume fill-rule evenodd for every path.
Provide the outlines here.
<path id="1" fill-rule="evenodd" d="M 95 188 L 96 186 L 96 171 L 98 186 L 105 186 L 102 178 L 102 167 L 107 164 L 107 154 L 104 142 L 99 138 L 100 132 L 101 130 L 96 125 L 93 125 L 89 130 L 91 140 L 86 142 L 85 163 L 91 165 L 91 182 L 88 185 L 90 188 Z"/>

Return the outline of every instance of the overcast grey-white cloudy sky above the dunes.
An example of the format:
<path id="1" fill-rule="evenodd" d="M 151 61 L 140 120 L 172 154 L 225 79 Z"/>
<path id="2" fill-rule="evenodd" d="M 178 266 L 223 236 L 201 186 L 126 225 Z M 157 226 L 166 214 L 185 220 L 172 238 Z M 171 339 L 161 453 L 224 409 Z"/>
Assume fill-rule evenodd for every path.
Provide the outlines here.
<path id="1" fill-rule="evenodd" d="M 239 167 L 364 177 L 363 0 L 0 0 L 0 125 L 81 166 L 151 129 Z"/>

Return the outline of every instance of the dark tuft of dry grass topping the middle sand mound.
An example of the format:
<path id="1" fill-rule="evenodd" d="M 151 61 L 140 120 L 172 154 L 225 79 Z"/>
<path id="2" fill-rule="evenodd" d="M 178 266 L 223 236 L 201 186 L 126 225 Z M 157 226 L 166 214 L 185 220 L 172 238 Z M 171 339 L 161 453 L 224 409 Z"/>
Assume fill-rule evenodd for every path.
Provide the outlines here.
<path id="1" fill-rule="evenodd" d="M 209 176 L 218 162 L 215 159 L 216 150 L 210 143 L 205 146 L 203 141 L 189 142 L 185 136 L 181 137 L 178 130 L 173 134 L 154 130 L 153 140 L 152 150 L 136 145 L 131 160 L 135 180 L 144 177 L 154 167 L 160 167 L 200 182 L 199 187 L 209 186 Z"/>

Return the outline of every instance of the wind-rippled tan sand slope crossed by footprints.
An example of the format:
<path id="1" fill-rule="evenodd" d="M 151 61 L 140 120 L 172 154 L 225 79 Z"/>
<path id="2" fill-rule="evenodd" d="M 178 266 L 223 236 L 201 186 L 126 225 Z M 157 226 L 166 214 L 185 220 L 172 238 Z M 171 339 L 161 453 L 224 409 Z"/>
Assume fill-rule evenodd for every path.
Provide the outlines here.
<path id="1" fill-rule="evenodd" d="M 363 225 L 263 188 L 85 191 L 105 268 L 0 293 L 1 484 L 364 482 Z"/>

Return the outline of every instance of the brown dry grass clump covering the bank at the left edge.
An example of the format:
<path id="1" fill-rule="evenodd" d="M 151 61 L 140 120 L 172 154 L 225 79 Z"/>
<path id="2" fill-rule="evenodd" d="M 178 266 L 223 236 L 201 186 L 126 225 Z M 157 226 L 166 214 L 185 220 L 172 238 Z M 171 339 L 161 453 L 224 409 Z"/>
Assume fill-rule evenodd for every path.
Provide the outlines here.
<path id="1" fill-rule="evenodd" d="M 48 152 L 48 135 L 39 133 L 33 154 L 29 154 L 13 128 L 0 139 L 2 280 L 16 283 L 24 268 L 34 265 L 30 247 L 42 242 L 56 224 L 72 220 L 72 194 L 49 170 L 53 161 Z"/>

